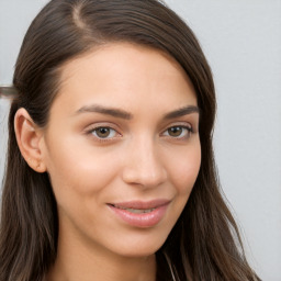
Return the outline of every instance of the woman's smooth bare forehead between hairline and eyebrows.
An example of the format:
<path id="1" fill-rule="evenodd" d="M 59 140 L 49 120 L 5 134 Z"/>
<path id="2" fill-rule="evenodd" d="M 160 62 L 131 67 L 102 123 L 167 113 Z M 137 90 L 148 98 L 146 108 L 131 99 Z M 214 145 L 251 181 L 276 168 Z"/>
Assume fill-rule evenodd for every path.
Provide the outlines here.
<path id="1" fill-rule="evenodd" d="M 77 57 L 63 67 L 60 80 L 57 102 L 71 111 L 89 103 L 130 111 L 196 105 L 182 67 L 164 52 L 135 44 L 109 44 Z"/>

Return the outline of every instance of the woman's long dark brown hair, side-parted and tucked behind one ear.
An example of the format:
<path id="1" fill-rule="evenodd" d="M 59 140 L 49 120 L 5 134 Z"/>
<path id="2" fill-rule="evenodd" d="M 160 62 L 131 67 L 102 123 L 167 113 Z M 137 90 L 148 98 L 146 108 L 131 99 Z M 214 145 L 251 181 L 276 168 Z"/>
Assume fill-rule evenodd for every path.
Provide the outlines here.
<path id="1" fill-rule="evenodd" d="M 56 260 L 58 217 L 47 173 L 23 159 L 13 120 L 25 108 L 48 122 L 61 66 L 103 44 L 131 42 L 172 56 L 191 79 L 201 110 L 202 164 L 190 199 L 156 252 L 157 280 L 259 280 L 248 266 L 235 221 L 220 192 L 212 148 L 215 89 L 202 49 L 187 24 L 157 0 L 53 0 L 32 22 L 21 47 L 9 116 L 2 193 L 0 281 L 42 281 Z"/>

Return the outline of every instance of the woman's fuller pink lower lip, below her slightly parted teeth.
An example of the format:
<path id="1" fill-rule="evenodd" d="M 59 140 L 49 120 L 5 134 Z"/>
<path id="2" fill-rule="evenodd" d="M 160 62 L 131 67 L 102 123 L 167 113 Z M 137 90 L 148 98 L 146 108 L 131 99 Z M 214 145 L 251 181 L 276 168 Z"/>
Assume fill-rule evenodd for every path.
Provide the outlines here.
<path id="1" fill-rule="evenodd" d="M 130 211 L 115 207 L 113 205 L 109 205 L 109 207 L 125 223 L 132 226 L 146 228 L 157 225 L 162 220 L 168 204 L 158 206 L 149 213 L 132 213 Z"/>

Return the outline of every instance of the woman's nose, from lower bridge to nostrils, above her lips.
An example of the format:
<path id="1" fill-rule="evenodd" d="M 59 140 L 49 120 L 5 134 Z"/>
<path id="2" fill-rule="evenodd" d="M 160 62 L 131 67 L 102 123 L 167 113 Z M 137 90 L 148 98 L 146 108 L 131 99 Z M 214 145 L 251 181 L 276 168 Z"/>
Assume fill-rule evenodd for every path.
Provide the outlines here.
<path id="1" fill-rule="evenodd" d="M 131 144 L 131 148 L 126 151 L 123 180 L 128 184 L 144 188 L 154 188 L 164 183 L 167 180 L 167 170 L 158 150 L 153 140 L 143 139 Z"/>

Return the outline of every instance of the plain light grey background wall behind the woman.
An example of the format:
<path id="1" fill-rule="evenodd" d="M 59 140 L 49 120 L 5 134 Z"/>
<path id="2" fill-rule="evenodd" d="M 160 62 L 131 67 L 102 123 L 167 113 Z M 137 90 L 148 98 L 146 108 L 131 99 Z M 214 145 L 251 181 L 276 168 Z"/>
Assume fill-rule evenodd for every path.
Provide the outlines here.
<path id="1" fill-rule="evenodd" d="M 46 0 L 0 0 L 0 83 Z M 223 189 L 262 280 L 281 281 L 281 0 L 168 0 L 213 69 L 215 155 Z M 0 100 L 0 178 L 9 102 Z"/>

